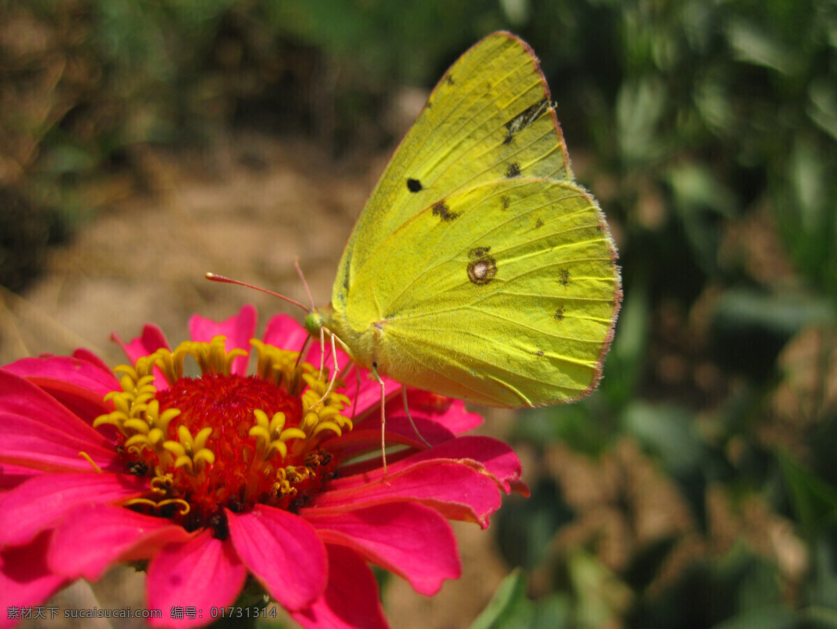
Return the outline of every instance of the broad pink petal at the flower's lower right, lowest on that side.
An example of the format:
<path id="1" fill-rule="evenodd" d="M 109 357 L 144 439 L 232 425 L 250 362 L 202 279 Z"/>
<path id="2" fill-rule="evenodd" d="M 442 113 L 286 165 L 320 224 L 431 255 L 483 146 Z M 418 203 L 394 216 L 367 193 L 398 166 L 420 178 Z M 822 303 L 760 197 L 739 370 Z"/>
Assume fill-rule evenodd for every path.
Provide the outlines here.
<path id="1" fill-rule="evenodd" d="M 450 525 L 423 504 L 391 502 L 346 511 L 301 509 L 323 541 L 348 546 L 367 560 L 403 576 L 415 591 L 435 594 L 445 579 L 460 576 Z"/>

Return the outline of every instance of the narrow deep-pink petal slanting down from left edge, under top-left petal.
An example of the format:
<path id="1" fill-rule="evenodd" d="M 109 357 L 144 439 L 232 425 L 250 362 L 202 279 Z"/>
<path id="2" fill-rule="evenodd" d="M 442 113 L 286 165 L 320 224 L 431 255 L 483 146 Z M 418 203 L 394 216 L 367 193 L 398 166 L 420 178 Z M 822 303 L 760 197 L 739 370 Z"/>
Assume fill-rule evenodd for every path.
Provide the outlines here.
<path id="1" fill-rule="evenodd" d="M 110 443 L 38 386 L 0 368 L 0 408 L 3 412 L 33 417 L 44 426 L 59 426 L 69 436 L 108 447 Z"/>

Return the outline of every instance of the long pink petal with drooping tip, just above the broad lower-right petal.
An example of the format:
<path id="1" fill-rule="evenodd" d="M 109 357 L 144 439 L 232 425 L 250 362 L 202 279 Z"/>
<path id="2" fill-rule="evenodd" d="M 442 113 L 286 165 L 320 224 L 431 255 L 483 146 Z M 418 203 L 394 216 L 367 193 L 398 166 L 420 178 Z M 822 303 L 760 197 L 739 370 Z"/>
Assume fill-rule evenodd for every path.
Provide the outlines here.
<path id="1" fill-rule="evenodd" d="M 500 508 L 500 491 L 493 478 L 462 463 L 436 459 L 415 463 L 383 474 L 375 482 L 365 475 L 339 478 L 316 497 L 314 509 L 382 504 L 413 499 L 439 511 L 447 519 L 476 522 L 488 527 L 488 515 Z M 348 505 L 352 505 L 349 507 Z M 306 516 L 308 509 L 300 514 Z"/>

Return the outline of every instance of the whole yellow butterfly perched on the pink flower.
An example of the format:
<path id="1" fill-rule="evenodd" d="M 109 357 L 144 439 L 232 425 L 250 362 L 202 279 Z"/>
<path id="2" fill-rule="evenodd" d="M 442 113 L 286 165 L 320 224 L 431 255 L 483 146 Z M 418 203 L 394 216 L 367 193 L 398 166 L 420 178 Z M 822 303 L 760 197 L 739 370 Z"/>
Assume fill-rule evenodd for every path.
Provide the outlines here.
<path id="1" fill-rule="evenodd" d="M 571 401 L 614 335 L 616 257 L 537 57 L 494 33 L 436 85 L 306 330 L 404 385 L 492 407 Z"/>

